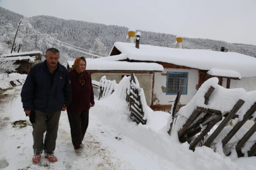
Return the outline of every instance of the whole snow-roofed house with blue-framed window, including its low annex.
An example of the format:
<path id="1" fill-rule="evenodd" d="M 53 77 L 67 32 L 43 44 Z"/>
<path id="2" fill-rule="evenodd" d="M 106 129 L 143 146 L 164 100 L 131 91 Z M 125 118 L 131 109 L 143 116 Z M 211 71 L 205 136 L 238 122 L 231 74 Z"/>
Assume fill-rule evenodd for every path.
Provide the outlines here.
<path id="1" fill-rule="evenodd" d="M 256 59 L 236 52 L 115 42 L 108 57 L 87 60 L 86 70 L 96 81 L 107 76 L 118 83 L 135 72 L 153 110 L 170 110 L 177 91 L 186 105 L 209 77 L 218 77 L 225 88 L 256 90 Z"/>

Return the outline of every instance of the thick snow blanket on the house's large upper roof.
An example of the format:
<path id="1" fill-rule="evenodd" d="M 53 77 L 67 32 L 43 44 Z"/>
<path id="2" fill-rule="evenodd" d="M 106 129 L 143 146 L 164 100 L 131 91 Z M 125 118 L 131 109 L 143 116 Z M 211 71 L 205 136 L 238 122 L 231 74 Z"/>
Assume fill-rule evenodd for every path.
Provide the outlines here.
<path id="1" fill-rule="evenodd" d="M 115 42 L 114 46 L 122 54 L 126 54 L 127 59 L 130 60 L 167 62 L 207 71 L 212 68 L 233 70 L 239 72 L 241 77 L 256 76 L 256 59 L 236 52 L 168 48 L 153 45 L 139 45 L 139 48 L 136 48 L 134 43 L 123 42 Z M 108 60 L 108 57 L 103 57 L 103 59 Z"/>

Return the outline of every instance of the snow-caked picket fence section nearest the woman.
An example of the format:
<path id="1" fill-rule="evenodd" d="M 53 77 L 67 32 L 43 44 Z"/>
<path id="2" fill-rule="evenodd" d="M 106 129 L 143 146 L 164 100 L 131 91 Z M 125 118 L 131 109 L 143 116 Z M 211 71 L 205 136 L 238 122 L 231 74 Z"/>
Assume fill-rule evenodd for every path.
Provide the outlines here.
<path id="1" fill-rule="evenodd" d="M 113 91 L 115 91 L 115 87 L 117 86 L 117 82 L 115 80 L 110 81 L 106 79 L 106 76 L 103 76 L 100 79 L 100 83 L 98 84 L 100 93 L 98 94 L 98 99 L 107 98 L 110 96 Z"/>

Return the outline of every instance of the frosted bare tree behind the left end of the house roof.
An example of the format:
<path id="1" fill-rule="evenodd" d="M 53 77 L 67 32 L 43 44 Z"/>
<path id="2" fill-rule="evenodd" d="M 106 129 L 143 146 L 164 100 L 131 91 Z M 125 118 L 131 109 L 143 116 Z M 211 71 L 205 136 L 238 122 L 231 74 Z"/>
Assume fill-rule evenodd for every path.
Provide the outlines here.
<path id="1" fill-rule="evenodd" d="M 93 46 L 90 48 L 90 54 L 98 55 L 101 57 L 107 56 L 107 48 L 105 47 L 105 45 L 102 42 L 100 42 L 99 38 L 95 39 Z M 89 57 L 96 58 L 96 57 L 93 57 L 90 55 L 89 55 Z"/>

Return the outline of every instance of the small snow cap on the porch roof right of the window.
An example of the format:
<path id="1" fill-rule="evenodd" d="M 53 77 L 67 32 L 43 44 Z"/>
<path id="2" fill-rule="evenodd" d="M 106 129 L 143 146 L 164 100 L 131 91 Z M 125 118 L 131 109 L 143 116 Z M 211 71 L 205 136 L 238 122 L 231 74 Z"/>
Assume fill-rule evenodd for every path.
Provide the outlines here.
<path id="1" fill-rule="evenodd" d="M 211 76 L 235 77 L 241 79 L 241 74 L 239 72 L 231 70 L 212 68 L 207 72 L 207 74 L 210 74 Z"/>

